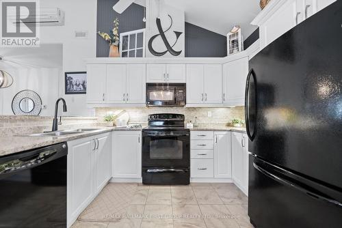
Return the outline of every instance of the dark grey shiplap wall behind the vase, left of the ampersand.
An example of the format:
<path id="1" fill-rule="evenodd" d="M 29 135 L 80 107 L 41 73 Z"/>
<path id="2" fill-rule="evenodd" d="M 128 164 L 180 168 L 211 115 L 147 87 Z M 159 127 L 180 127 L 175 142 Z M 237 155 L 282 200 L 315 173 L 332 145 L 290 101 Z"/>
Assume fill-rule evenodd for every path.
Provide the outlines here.
<path id="1" fill-rule="evenodd" d="M 119 31 L 124 33 L 126 31 L 133 31 L 137 29 L 144 29 L 145 23 L 142 21 L 144 18 L 144 8 L 141 5 L 133 3 L 122 14 L 118 14 L 113 10 L 118 0 L 98 0 L 97 1 L 97 31 L 109 33 L 113 29 L 113 20 L 118 17 Z M 109 46 L 108 42 L 103 40 L 101 36 L 97 35 L 96 38 L 96 57 L 108 57 Z"/>

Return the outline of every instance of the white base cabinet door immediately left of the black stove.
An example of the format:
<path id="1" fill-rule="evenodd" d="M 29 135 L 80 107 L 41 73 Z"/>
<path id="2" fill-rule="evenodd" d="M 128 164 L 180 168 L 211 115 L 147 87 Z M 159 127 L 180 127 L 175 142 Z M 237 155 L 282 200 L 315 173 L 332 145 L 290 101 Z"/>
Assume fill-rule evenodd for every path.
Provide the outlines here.
<path id="1" fill-rule="evenodd" d="M 118 131 L 113 134 L 113 177 L 142 177 L 142 132 Z"/>

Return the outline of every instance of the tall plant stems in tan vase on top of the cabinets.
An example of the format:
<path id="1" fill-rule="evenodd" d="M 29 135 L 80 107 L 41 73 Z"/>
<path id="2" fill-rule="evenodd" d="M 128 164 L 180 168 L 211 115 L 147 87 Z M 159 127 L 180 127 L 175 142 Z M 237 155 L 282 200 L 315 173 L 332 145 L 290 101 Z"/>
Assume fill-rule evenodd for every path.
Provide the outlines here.
<path id="1" fill-rule="evenodd" d="M 101 36 L 104 40 L 109 42 L 109 57 L 120 57 L 119 53 L 119 19 L 116 18 L 114 20 L 114 28 L 111 29 L 110 35 L 108 33 L 103 33 L 101 31 L 98 31 L 98 35 Z"/>

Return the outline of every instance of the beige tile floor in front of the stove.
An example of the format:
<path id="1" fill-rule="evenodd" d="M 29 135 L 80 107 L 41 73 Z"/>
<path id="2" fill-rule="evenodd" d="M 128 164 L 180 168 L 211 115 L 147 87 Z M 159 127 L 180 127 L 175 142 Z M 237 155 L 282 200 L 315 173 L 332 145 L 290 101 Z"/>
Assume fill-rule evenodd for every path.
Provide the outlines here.
<path id="1" fill-rule="evenodd" d="M 108 184 L 73 228 L 252 228 L 234 184 Z"/>

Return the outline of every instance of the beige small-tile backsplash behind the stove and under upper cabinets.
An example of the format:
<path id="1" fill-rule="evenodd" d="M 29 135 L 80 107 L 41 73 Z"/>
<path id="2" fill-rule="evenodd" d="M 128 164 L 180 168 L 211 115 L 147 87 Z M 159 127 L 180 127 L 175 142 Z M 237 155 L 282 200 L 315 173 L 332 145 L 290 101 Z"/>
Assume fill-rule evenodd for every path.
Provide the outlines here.
<path id="1" fill-rule="evenodd" d="M 197 117 L 197 122 L 200 125 L 225 125 L 231 122 L 232 119 L 245 119 L 244 106 L 232 108 L 183 108 L 183 107 L 146 107 L 146 108 L 98 108 L 96 109 L 96 117 L 101 122 L 103 117 L 110 112 L 116 113 L 119 110 L 125 110 L 129 113 L 129 124 L 147 124 L 147 116 L 155 113 L 177 113 L 185 115 L 185 122 L 192 120 L 194 122 Z M 211 112 L 211 117 L 208 117 L 208 112 Z"/>

